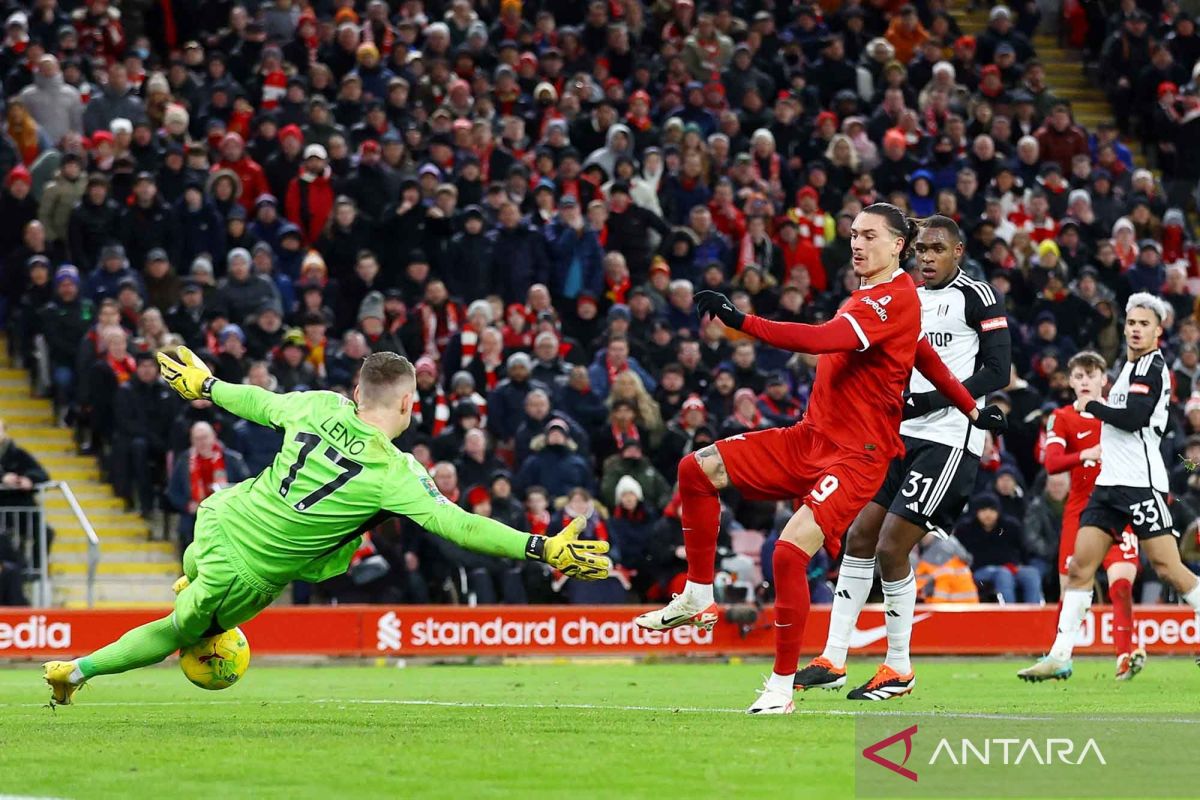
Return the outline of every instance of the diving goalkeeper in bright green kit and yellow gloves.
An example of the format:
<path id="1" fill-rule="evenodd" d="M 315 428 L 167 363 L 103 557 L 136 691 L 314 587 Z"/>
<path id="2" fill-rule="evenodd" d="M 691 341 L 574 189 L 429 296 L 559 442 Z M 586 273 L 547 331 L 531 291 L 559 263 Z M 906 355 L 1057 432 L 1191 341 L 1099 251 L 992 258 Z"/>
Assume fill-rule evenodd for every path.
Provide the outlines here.
<path id="1" fill-rule="evenodd" d="M 463 511 L 392 439 L 409 426 L 413 365 L 395 353 L 366 359 L 354 402 L 332 392 L 275 395 L 223 383 L 187 348 L 158 354 L 163 377 L 187 401 L 211 399 L 240 417 L 283 432 L 283 449 L 257 477 L 200 504 L 196 540 L 184 553 L 175 610 L 77 661 L 44 666 L 53 702 L 67 704 L 96 675 L 154 664 L 180 648 L 230 630 L 266 608 L 292 581 L 346 571 L 360 536 L 404 516 L 478 553 L 545 561 L 564 575 L 608 576 L 607 542 L 576 541 L 582 519 L 557 536 L 530 536 Z"/>

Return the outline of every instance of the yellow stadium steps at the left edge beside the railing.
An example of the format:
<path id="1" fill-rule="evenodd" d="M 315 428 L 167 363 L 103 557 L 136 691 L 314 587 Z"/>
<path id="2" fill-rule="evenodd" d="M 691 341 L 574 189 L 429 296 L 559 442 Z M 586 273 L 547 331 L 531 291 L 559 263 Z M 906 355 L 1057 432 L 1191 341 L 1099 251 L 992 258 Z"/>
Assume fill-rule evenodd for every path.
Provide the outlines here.
<path id="1" fill-rule="evenodd" d="M 150 608 L 172 602 L 179 555 L 169 542 L 151 541 L 150 525 L 125 510 L 125 501 L 100 480 L 91 456 L 76 451 L 71 431 L 59 427 L 50 401 L 30 393 L 29 374 L 11 366 L 0 333 L 0 419 L 8 435 L 31 452 L 54 480 L 67 481 L 100 536 L 96 573 L 97 608 Z M 50 578 L 55 606 L 86 607 L 88 537 L 66 498 L 50 492 L 46 519 L 54 528 Z"/>

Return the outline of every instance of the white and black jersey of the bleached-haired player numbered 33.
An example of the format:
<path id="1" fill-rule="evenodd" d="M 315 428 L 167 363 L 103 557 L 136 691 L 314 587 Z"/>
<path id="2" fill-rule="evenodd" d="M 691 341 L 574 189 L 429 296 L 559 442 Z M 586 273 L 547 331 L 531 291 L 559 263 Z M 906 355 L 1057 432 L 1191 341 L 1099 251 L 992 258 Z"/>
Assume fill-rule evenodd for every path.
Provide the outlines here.
<path id="1" fill-rule="evenodd" d="M 1136 361 L 1127 361 L 1112 381 L 1104 404 L 1126 408 L 1130 393 L 1156 399 L 1150 422 L 1138 431 L 1123 431 L 1108 422 L 1100 428 L 1100 474 L 1097 486 L 1128 486 L 1168 492 L 1166 464 L 1163 463 L 1163 434 L 1166 433 L 1166 404 L 1171 395 L 1171 373 L 1159 350 Z"/>

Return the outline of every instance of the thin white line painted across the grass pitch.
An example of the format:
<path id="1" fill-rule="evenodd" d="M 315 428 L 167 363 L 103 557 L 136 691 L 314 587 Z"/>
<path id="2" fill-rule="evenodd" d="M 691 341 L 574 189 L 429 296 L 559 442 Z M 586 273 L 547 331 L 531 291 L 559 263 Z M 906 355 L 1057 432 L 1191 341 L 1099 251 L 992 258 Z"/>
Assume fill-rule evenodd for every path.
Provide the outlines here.
<path id="1" fill-rule="evenodd" d="M 158 708 L 158 706 L 196 706 L 196 705 L 416 705 L 433 708 L 454 709 L 571 709 L 582 711 L 652 711 L 659 714 L 745 714 L 744 709 L 727 708 L 700 708 L 686 705 L 602 705 L 599 703 L 463 703 L 457 700 L 406 700 L 390 698 L 336 698 L 326 697 L 312 700 L 282 699 L 282 700 L 132 700 L 128 703 L 97 702 L 90 703 L 86 699 L 85 706 L 113 706 L 113 708 Z M 46 703 L 0 703 L 0 708 L 46 708 Z M 62 711 L 70 714 L 70 710 Z M 1052 721 L 1063 717 L 1082 720 L 1088 722 L 1178 722 L 1183 724 L 1200 724 L 1200 717 L 1130 717 L 1115 714 L 1108 715 L 1078 715 L 1078 714 L 990 714 L 986 711 L 929 711 L 916 710 L 905 711 L 850 711 L 846 709 L 796 709 L 796 714 L 803 716 L 842 716 L 842 717 L 948 717 L 952 720 L 1007 720 L 1007 721 Z M 0 795 L 0 800 L 4 800 Z"/>

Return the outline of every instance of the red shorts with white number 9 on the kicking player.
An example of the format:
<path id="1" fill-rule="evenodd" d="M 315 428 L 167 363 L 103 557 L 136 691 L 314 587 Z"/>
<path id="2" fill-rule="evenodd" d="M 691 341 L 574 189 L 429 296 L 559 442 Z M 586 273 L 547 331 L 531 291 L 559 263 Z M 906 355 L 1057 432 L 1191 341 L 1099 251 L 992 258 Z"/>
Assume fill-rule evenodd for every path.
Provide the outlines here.
<path id="1" fill-rule="evenodd" d="M 721 439 L 716 449 L 742 497 L 806 505 L 834 558 L 842 534 L 878 492 L 890 463 L 874 451 L 841 447 L 803 422 Z"/>

